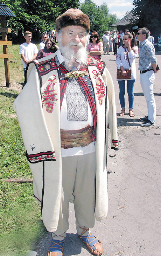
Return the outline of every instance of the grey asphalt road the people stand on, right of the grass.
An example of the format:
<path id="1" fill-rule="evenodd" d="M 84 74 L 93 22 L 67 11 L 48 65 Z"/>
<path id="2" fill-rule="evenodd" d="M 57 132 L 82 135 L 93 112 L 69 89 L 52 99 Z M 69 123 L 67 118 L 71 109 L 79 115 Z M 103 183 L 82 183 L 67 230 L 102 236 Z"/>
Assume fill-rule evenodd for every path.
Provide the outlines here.
<path id="1" fill-rule="evenodd" d="M 96 222 L 93 234 L 103 244 L 103 255 L 161 256 L 161 70 L 156 73 L 154 95 L 156 122 L 154 127 L 141 127 L 140 117 L 147 115 L 147 106 L 139 82 L 134 85 L 134 113 L 120 117 L 119 87 L 116 81 L 116 56 L 104 55 L 113 78 L 118 122 L 119 151 L 109 149 L 108 174 L 109 212 L 106 219 Z M 156 53 L 161 68 L 161 53 Z M 158 135 L 157 135 L 158 134 Z M 65 239 L 63 256 L 91 255 L 76 235 L 73 205 L 69 209 L 70 228 Z M 37 256 L 46 256 L 51 233 L 36 245 Z"/>

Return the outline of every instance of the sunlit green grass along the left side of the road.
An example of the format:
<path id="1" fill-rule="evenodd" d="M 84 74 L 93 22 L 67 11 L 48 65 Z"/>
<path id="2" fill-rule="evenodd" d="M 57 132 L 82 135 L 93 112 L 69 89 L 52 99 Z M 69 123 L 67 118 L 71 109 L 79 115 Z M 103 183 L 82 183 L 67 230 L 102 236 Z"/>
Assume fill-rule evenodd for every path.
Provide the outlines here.
<path id="1" fill-rule="evenodd" d="M 9 46 L 8 50 L 13 53 L 13 62 L 9 63 L 11 85 L 23 83 L 19 45 Z M 1 81 L 5 81 L 2 59 L 0 84 Z M 0 88 L 0 179 L 32 178 L 12 107 L 18 94 L 12 89 Z M 41 207 L 33 196 L 33 184 L 12 184 L 0 180 L 0 256 L 25 255 L 25 251 L 34 249 L 34 244 L 44 232 Z"/>

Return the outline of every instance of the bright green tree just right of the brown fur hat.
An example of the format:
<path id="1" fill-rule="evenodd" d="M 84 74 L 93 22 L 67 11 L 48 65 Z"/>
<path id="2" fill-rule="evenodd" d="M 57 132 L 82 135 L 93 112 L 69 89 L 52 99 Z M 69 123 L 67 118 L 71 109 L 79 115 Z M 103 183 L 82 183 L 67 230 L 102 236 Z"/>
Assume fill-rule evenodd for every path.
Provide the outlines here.
<path id="1" fill-rule="evenodd" d="M 92 0 L 85 0 L 80 5 L 80 10 L 88 15 L 91 23 L 91 32 L 98 32 L 100 37 L 103 36 L 106 30 L 109 30 L 109 25 L 118 21 L 116 14 L 109 13 L 109 8 L 105 2 L 97 7 Z"/>

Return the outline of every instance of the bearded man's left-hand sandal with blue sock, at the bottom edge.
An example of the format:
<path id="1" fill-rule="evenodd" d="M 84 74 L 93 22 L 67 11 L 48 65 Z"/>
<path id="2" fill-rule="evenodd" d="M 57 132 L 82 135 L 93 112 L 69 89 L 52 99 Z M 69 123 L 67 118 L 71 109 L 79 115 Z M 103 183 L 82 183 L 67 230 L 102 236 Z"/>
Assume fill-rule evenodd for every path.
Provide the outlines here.
<path id="1" fill-rule="evenodd" d="M 63 256 L 63 246 L 64 246 L 65 238 L 62 241 L 54 240 L 52 238 L 49 250 L 48 250 L 48 256 Z"/>

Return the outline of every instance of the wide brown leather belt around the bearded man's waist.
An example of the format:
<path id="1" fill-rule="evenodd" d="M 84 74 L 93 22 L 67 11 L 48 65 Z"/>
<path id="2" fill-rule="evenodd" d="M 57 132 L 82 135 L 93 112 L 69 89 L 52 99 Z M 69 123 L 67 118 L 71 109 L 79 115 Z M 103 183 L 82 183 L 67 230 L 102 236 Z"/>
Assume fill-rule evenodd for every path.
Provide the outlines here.
<path id="1" fill-rule="evenodd" d="M 62 130 L 61 129 L 61 147 L 85 147 L 92 142 L 93 126 L 89 124 L 79 130 Z"/>

